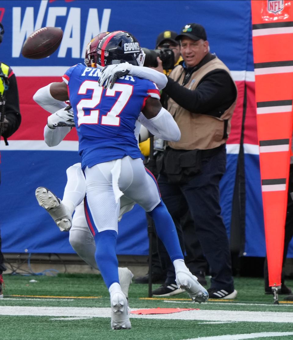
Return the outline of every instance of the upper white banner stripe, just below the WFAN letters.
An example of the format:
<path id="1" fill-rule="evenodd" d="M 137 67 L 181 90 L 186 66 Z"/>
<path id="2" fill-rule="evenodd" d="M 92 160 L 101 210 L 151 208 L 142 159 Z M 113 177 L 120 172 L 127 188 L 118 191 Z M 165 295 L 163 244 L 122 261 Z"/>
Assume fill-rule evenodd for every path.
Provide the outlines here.
<path id="1" fill-rule="evenodd" d="M 62 77 L 71 66 L 11 66 L 17 77 Z M 253 71 L 231 71 L 234 81 L 254 81 Z"/>

